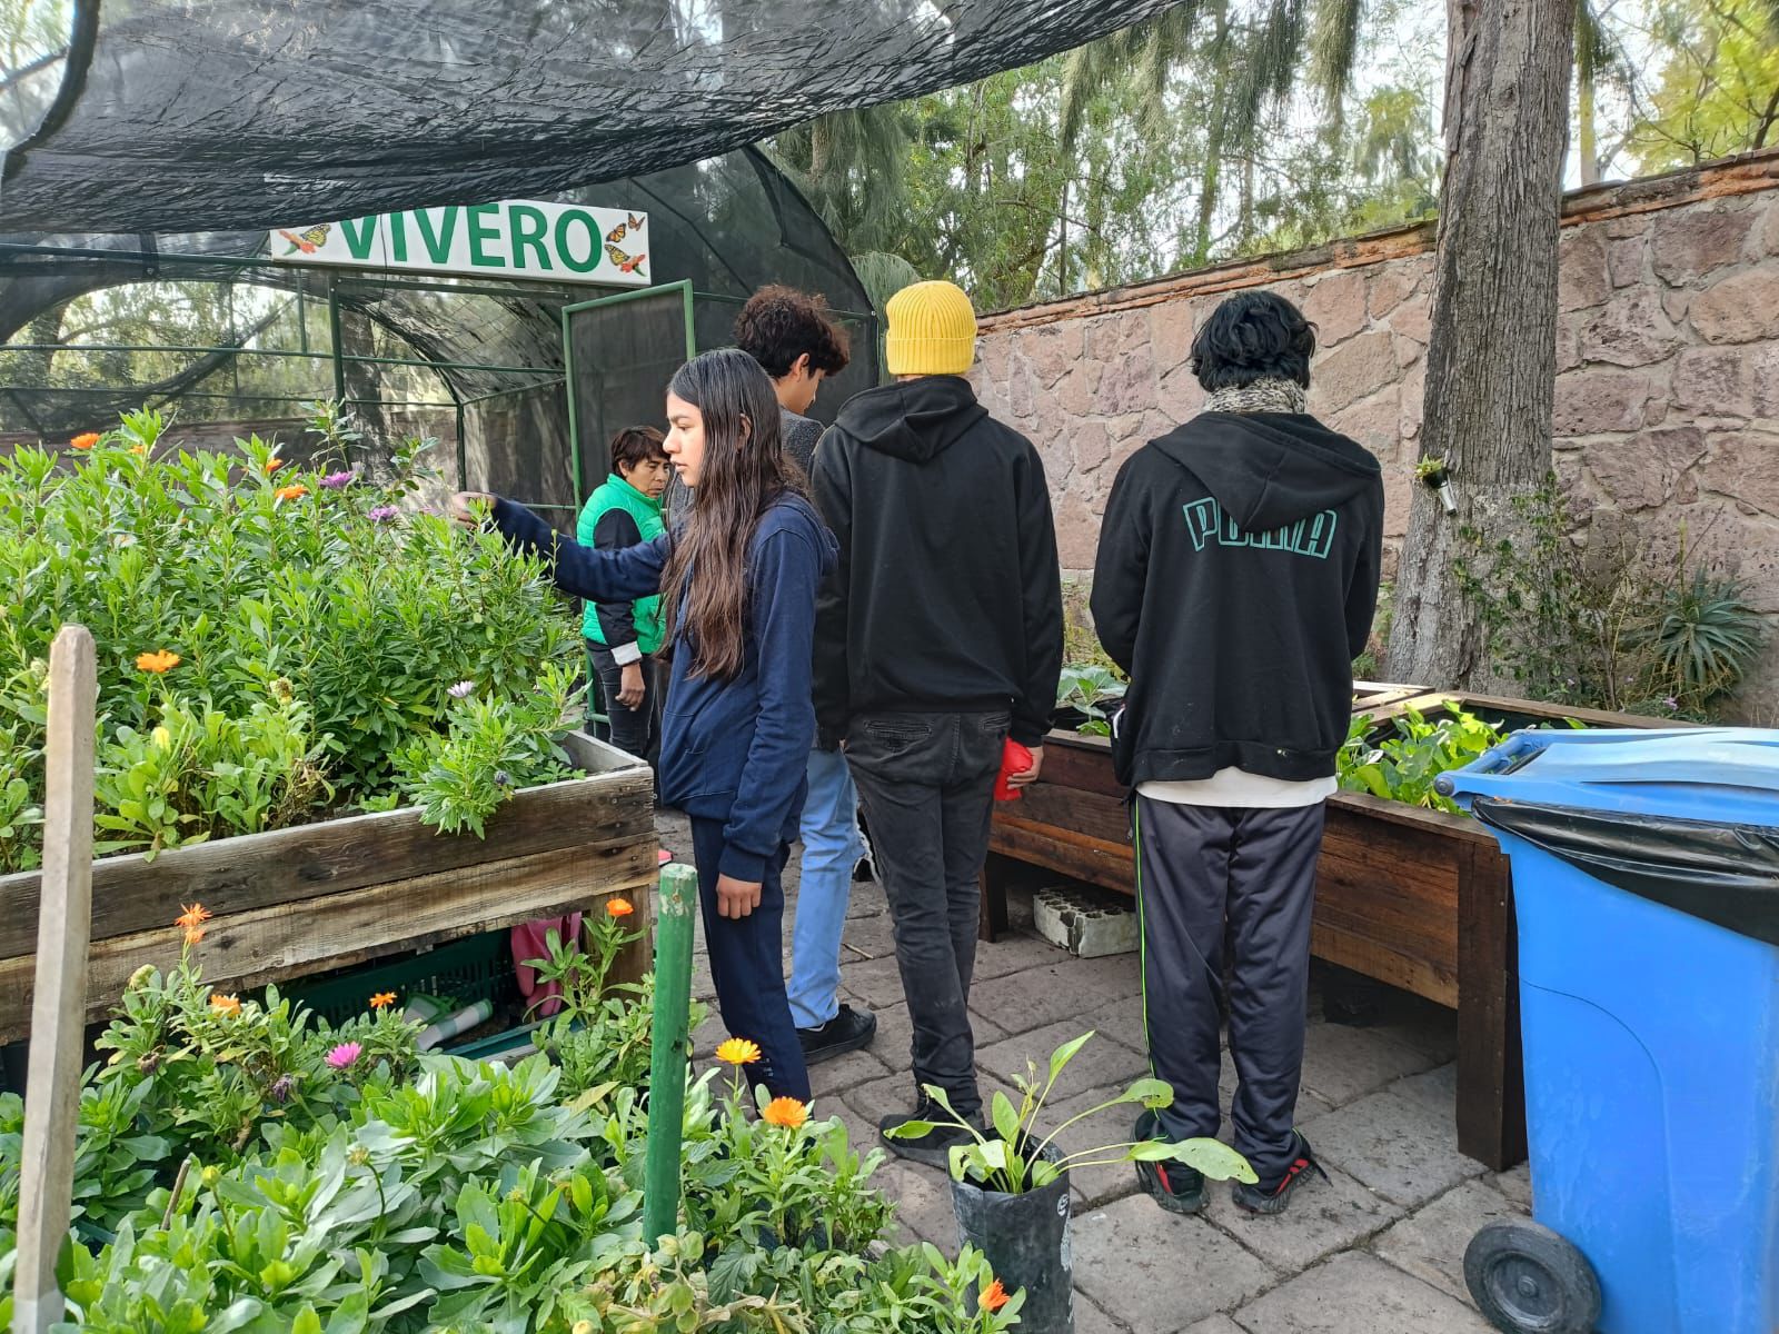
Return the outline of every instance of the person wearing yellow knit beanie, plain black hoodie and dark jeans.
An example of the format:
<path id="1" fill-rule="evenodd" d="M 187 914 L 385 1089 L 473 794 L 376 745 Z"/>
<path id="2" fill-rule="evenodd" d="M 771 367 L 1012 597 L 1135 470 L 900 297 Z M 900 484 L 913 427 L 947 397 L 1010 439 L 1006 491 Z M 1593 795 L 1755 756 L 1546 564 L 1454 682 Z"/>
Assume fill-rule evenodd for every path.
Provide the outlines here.
<path id="1" fill-rule="evenodd" d="M 815 503 L 840 542 L 815 624 L 815 711 L 843 738 L 895 923 L 913 1021 L 914 1121 L 945 1090 L 982 1110 L 970 1030 L 977 877 L 1007 738 L 1037 777 L 1062 671 L 1062 583 L 1044 466 L 962 379 L 977 320 L 952 283 L 891 297 L 897 384 L 847 402 L 815 452 Z M 891 1115 L 882 1129 L 911 1117 Z M 886 1145 L 943 1165 L 962 1131 Z"/>

